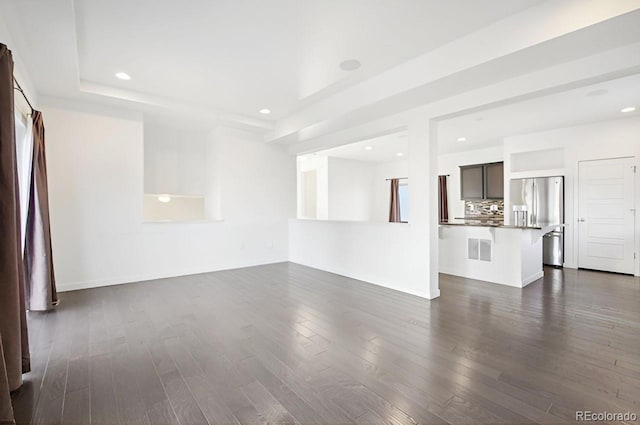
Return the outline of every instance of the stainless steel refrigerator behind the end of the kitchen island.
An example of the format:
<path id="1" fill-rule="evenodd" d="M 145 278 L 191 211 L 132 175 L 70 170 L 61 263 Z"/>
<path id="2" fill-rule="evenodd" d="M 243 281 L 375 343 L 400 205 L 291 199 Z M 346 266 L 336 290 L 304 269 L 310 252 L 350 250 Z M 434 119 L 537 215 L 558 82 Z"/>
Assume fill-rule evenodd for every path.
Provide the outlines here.
<path id="1" fill-rule="evenodd" d="M 564 224 L 564 177 L 511 180 L 511 206 L 527 206 L 527 224 Z M 509 209 L 509 213 L 512 208 Z M 543 263 L 560 267 L 564 262 L 564 230 L 557 227 L 544 235 Z"/>

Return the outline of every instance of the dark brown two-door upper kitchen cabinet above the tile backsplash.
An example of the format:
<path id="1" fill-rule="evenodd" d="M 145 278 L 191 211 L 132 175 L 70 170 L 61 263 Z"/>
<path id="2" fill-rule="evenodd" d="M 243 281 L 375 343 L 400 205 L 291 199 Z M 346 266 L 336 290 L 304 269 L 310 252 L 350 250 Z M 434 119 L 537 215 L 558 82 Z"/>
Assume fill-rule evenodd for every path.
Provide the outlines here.
<path id="1" fill-rule="evenodd" d="M 460 167 L 460 194 L 463 200 L 503 199 L 504 164 L 493 162 Z"/>

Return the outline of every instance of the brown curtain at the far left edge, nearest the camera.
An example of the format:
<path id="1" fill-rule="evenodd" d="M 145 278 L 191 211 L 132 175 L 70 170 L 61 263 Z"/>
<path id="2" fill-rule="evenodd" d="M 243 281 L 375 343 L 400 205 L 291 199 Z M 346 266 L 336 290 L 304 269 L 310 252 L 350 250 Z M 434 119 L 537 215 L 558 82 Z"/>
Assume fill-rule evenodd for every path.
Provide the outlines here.
<path id="1" fill-rule="evenodd" d="M 0 44 L 0 423 L 13 421 L 8 393 L 30 369 L 13 114 L 13 59 Z"/>

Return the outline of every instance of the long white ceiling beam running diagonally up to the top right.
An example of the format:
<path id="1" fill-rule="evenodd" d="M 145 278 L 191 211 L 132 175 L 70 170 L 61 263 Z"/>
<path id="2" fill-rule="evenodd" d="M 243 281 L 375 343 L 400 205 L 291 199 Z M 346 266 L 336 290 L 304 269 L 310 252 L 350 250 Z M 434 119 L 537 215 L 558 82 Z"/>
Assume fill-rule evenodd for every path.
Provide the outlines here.
<path id="1" fill-rule="evenodd" d="M 640 39 L 640 1 L 549 1 L 321 99 L 265 140 L 299 143 Z"/>

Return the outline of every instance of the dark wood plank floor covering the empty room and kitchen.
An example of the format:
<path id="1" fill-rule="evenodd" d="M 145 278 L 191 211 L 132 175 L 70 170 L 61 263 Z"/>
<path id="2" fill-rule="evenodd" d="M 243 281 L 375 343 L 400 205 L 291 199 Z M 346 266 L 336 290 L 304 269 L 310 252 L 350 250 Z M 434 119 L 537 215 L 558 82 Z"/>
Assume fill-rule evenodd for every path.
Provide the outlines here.
<path id="1" fill-rule="evenodd" d="M 34 424 L 556 424 L 640 413 L 640 280 L 442 276 L 427 301 L 295 264 L 62 294 L 31 314 Z"/>

